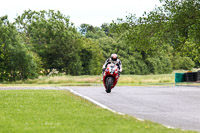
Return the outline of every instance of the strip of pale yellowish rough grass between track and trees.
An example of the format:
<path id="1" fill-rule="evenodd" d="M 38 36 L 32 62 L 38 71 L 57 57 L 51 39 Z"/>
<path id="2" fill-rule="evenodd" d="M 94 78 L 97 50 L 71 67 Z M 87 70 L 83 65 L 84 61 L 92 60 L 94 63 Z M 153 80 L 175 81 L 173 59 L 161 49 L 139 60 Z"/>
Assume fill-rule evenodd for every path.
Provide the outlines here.
<path id="1" fill-rule="evenodd" d="M 194 70 L 197 71 L 197 70 Z M 119 78 L 118 85 L 126 86 L 145 86 L 145 85 L 174 85 L 175 73 L 184 73 L 187 71 L 179 70 L 174 71 L 171 74 L 157 74 L 157 75 L 121 75 Z M 102 85 L 101 75 L 89 76 L 70 76 L 70 75 L 60 75 L 60 76 L 40 76 L 38 79 L 28 79 L 26 81 L 16 81 L 16 82 L 4 82 L 0 86 L 38 86 L 38 85 L 51 85 L 51 86 L 88 86 L 88 85 Z M 190 85 L 193 83 L 183 83 L 184 85 Z M 200 83 L 195 83 L 195 85 L 200 85 Z"/>

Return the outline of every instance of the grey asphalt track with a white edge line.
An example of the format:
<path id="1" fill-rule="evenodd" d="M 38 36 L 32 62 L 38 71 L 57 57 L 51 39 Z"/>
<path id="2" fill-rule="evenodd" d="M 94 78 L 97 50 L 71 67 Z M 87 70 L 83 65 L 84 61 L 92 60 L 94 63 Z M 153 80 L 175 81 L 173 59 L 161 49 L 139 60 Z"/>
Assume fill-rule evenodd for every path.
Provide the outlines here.
<path id="1" fill-rule="evenodd" d="M 0 87 L 9 89 L 56 89 L 97 101 L 108 108 L 166 126 L 200 131 L 200 87 L 117 86 L 106 93 L 103 86 Z"/>

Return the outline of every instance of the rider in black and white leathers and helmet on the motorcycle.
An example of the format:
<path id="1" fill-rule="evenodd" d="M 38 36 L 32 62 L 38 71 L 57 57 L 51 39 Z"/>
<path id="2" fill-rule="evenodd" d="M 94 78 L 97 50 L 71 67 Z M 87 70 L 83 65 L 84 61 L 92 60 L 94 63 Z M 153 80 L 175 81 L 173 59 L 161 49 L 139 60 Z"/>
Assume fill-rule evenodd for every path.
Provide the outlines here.
<path id="1" fill-rule="evenodd" d="M 102 70 L 103 70 L 103 73 L 104 74 L 104 71 L 106 70 L 106 67 L 108 64 L 111 64 L 111 63 L 114 63 L 118 66 L 118 75 L 120 76 L 120 73 L 122 72 L 122 62 L 120 61 L 120 59 L 117 58 L 117 54 L 112 54 L 110 56 L 110 58 L 108 58 L 106 60 L 106 62 L 104 63 L 103 67 L 102 67 Z"/>

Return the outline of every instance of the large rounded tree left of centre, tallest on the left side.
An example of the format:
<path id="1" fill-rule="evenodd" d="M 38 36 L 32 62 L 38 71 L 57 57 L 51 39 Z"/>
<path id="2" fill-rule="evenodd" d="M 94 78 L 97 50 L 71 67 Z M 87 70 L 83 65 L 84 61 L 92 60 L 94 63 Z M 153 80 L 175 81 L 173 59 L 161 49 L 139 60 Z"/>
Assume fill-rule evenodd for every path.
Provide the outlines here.
<path id="1" fill-rule="evenodd" d="M 33 44 L 33 51 L 42 58 L 46 71 L 55 68 L 66 74 L 81 74 L 80 35 L 68 17 L 59 11 L 29 10 L 18 16 L 16 23 L 21 34 Z"/>

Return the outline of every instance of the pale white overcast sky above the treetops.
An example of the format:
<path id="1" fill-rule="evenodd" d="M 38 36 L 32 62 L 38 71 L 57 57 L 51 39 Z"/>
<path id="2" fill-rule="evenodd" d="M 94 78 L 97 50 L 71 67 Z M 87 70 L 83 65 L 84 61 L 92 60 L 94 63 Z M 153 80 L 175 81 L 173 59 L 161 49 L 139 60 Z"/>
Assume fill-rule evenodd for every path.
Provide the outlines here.
<path id="1" fill-rule="evenodd" d="M 83 23 L 101 26 L 125 18 L 129 13 L 140 17 L 144 11 L 152 11 L 160 5 L 159 0 L 1 0 L 0 17 L 8 15 L 12 22 L 24 10 L 50 9 L 69 16 L 75 26 Z"/>

